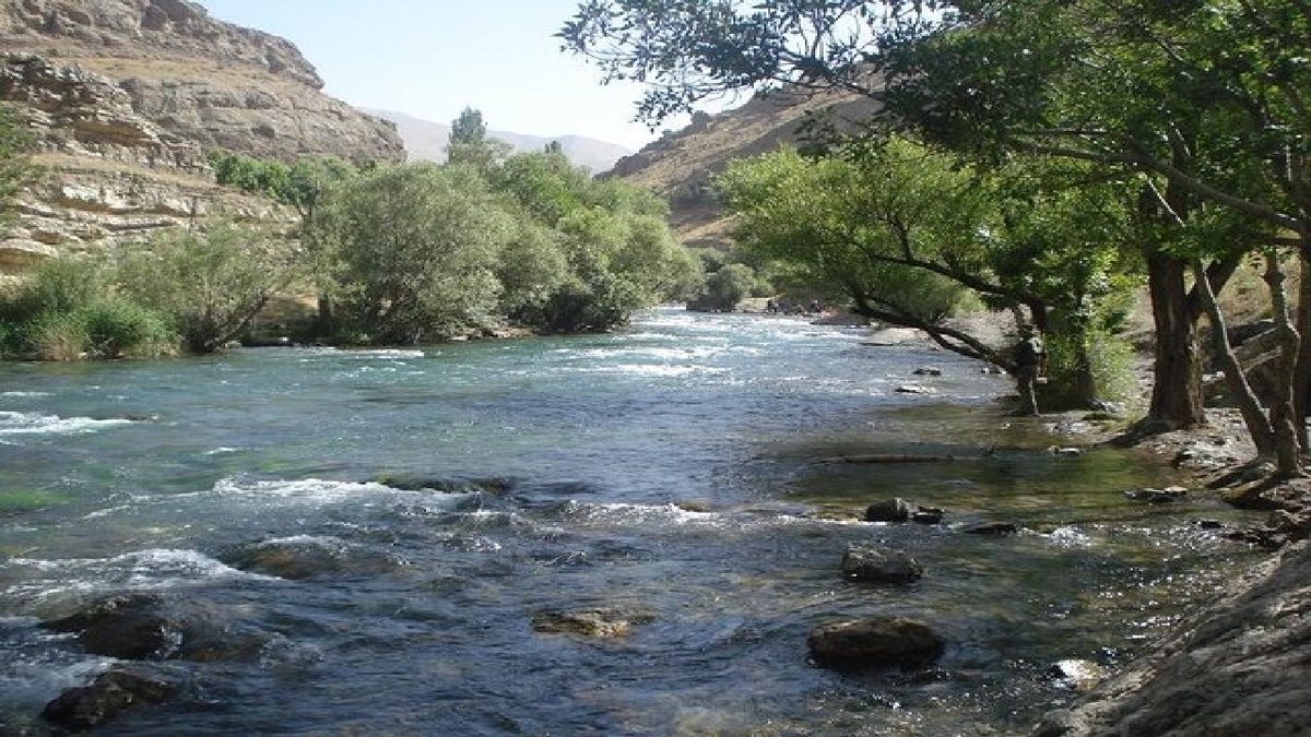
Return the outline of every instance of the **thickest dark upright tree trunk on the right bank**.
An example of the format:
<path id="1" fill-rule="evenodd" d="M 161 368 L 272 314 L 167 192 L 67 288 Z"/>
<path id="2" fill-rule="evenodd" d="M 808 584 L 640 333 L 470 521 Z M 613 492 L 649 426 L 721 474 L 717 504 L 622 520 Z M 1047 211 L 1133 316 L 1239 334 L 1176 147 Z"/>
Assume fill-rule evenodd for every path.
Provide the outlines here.
<path id="1" fill-rule="evenodd" d="M 1197 320 L 1188 308 L 1185 270 L 1179 258 L 1147 254 L 1147 285 L 1156 327 L 1154 384 L 1146 422 L 1150 431 L 1206 424 Z"/>

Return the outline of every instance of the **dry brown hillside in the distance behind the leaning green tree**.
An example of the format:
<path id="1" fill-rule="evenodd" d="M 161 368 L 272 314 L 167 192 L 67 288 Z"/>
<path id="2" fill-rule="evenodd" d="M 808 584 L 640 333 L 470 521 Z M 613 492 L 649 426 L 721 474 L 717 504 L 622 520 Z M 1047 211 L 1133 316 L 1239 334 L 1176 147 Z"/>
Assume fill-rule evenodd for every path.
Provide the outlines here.
<path id="1" fill-rule="evenodd" d="M 844 92 L 760 93 L 732 110 L 696 113 L 687 127 L 620 159 L 606 176 L 665 197 L 683 243 L 728 248 L 732 220 L 714 197 L 713 180 L 730 161 L 801 143 L 805 125 L 817 115 L 843 129 L 873 110 L 871 100 Z"/>

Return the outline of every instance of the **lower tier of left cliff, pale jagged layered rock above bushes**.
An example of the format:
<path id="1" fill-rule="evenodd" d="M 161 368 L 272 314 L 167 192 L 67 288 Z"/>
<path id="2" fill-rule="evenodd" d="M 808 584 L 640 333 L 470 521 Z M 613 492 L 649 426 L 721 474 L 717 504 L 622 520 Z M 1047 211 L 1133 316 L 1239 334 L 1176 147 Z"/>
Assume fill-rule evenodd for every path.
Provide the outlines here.
<path id="1" fill-rule="evenodd" d="M 0 100 L 17 105 L 46 168 L 18 198 L 18 220 L 0 240 L 0 274 L 214 215 L 288 216 L 271 202 L 215 185 L 199 144 L 136 114 L 128 94 L 100 75 L 5 55 Z"/>

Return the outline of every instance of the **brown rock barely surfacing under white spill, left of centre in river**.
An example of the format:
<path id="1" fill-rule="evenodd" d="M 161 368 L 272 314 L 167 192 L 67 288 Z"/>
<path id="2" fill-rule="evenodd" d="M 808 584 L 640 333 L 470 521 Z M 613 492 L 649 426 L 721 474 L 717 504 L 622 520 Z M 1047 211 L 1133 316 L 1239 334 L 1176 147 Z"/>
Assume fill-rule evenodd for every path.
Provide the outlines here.
<path id="1" fill-rule="evenodd" d="M 329 574 L 379 574 L 401 568 L 391 555 L 347 544 L 336 538 L 287 538 L 237 546 L 219 560 L 241 570 L 291 581 Z"/>

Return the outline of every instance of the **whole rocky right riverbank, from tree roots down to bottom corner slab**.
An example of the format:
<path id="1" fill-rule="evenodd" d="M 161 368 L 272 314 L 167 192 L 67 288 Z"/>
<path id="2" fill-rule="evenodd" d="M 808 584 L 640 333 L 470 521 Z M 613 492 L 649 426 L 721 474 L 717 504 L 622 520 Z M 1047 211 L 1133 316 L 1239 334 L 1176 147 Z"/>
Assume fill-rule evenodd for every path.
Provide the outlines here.
<path id="1" fill-rule="evenodd" d="M 1311 734 L 1311 484 L 1272 483 L 1235 412 L 1203 428 L 1117 438 L 1158 454 L 1192 485 L 1270 510 L 1234 534 L 1272 557 L 1197 607 L 1156 649 L 1049 713 L 1033 737 L 1295 737 Z"/>

